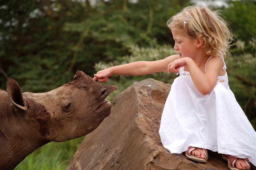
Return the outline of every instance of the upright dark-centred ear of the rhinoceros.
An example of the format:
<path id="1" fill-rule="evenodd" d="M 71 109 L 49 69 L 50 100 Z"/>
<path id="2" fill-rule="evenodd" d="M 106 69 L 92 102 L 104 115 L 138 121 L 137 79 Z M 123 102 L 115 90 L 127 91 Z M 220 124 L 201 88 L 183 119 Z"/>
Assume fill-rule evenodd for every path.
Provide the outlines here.
<path id="1" fill-rule="evenodd" d="M 27 110 L 26 104 L 23 100 L 22 92 L 19 84 L 12 78 L 7 80 L 7 90 L 12 103 L 22 110 Z"/>

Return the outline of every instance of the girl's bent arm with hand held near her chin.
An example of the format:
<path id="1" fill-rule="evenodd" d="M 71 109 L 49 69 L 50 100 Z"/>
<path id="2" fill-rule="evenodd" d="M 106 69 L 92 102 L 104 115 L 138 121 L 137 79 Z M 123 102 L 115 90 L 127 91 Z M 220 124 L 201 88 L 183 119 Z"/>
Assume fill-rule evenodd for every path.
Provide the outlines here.
<path id="1" fill-rule="evenodd" d="M 178 73 L 179 68 L 186 66 L 197 90 L 202 95 L 209 94 L 217 83 L 218 75 L 222 70 L 222 60 L 220 57 L 212 57 L 207 63 L 207 71 L 204 73 L 196 65 L 193 59 L 184 57 L 168 65 L 168 71 Z"/>

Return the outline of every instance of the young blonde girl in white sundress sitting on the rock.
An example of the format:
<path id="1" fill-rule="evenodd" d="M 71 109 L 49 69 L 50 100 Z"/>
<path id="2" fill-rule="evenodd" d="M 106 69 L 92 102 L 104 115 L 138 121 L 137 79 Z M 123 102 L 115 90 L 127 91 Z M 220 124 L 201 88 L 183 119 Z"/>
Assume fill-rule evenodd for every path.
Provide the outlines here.
<path id="1" fill-rule="evenodd" d="M 94 74 L 106 82 L 112 74 L 179 73 L 162 113 L 159 134 L 171 153 L 206 162 L 207 149 L 222 154 L 231 170 L 256 165 L 256 132 L 228 86 L 224 57 L 232 40 L 217 12 L 192 6 L 168 21 L 175 40 L 172 55 L 158 61 L 113 66 Z M 176 130 L 178 129 L 178 131 Z"/>

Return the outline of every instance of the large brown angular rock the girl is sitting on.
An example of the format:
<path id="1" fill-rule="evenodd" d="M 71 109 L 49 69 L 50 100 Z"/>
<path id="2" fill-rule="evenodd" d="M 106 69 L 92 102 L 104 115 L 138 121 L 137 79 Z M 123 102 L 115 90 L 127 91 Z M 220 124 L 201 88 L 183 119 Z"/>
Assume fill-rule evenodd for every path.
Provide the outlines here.
<path id="1" fill-rule="evenodd" d="M 228 170 L 216 152 L 208 151 L 201 164 L 164 149 L 158 130 L 169 91 L 169 84 L 146 79 L 118 94 L 110 116 L 86 136 L 67 169 Z"/>

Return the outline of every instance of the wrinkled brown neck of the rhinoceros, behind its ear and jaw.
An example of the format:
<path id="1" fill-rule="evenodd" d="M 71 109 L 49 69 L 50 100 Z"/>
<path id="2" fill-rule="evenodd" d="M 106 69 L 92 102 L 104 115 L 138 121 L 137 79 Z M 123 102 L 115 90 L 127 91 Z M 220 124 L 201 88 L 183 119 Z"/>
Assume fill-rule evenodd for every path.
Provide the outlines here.
<path id="1" fill-rule="evenodd" d="M 14 169 L 28 154 L 45 145 L 38 125 L 28 125 L 15 113 L 7 92 L 0 91 L 0 169 Z"/>

